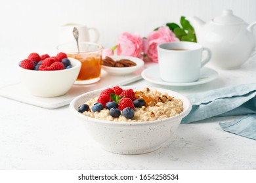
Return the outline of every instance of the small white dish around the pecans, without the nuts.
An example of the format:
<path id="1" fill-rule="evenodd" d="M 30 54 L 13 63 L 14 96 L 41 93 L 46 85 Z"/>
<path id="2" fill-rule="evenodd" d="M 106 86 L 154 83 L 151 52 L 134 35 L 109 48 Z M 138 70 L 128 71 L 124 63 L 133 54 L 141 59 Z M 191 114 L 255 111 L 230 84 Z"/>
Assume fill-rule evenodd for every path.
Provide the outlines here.
<path id="1" fill-rule="evenodd" d="M 137 71 L 144 65 L 144 61 L 142 61 L 142 59 L 131 57 L 131 56 L 110 56 L 110 58 L 114 59 L 114 61 L 117 61 L 119 59 L 129 59 L 137 64 L 132 67 L 108 67 L 108 66 L 102 65 L 102 69 L 104 69 L 104 71 L 112 75 L 128 75 Z"/>

